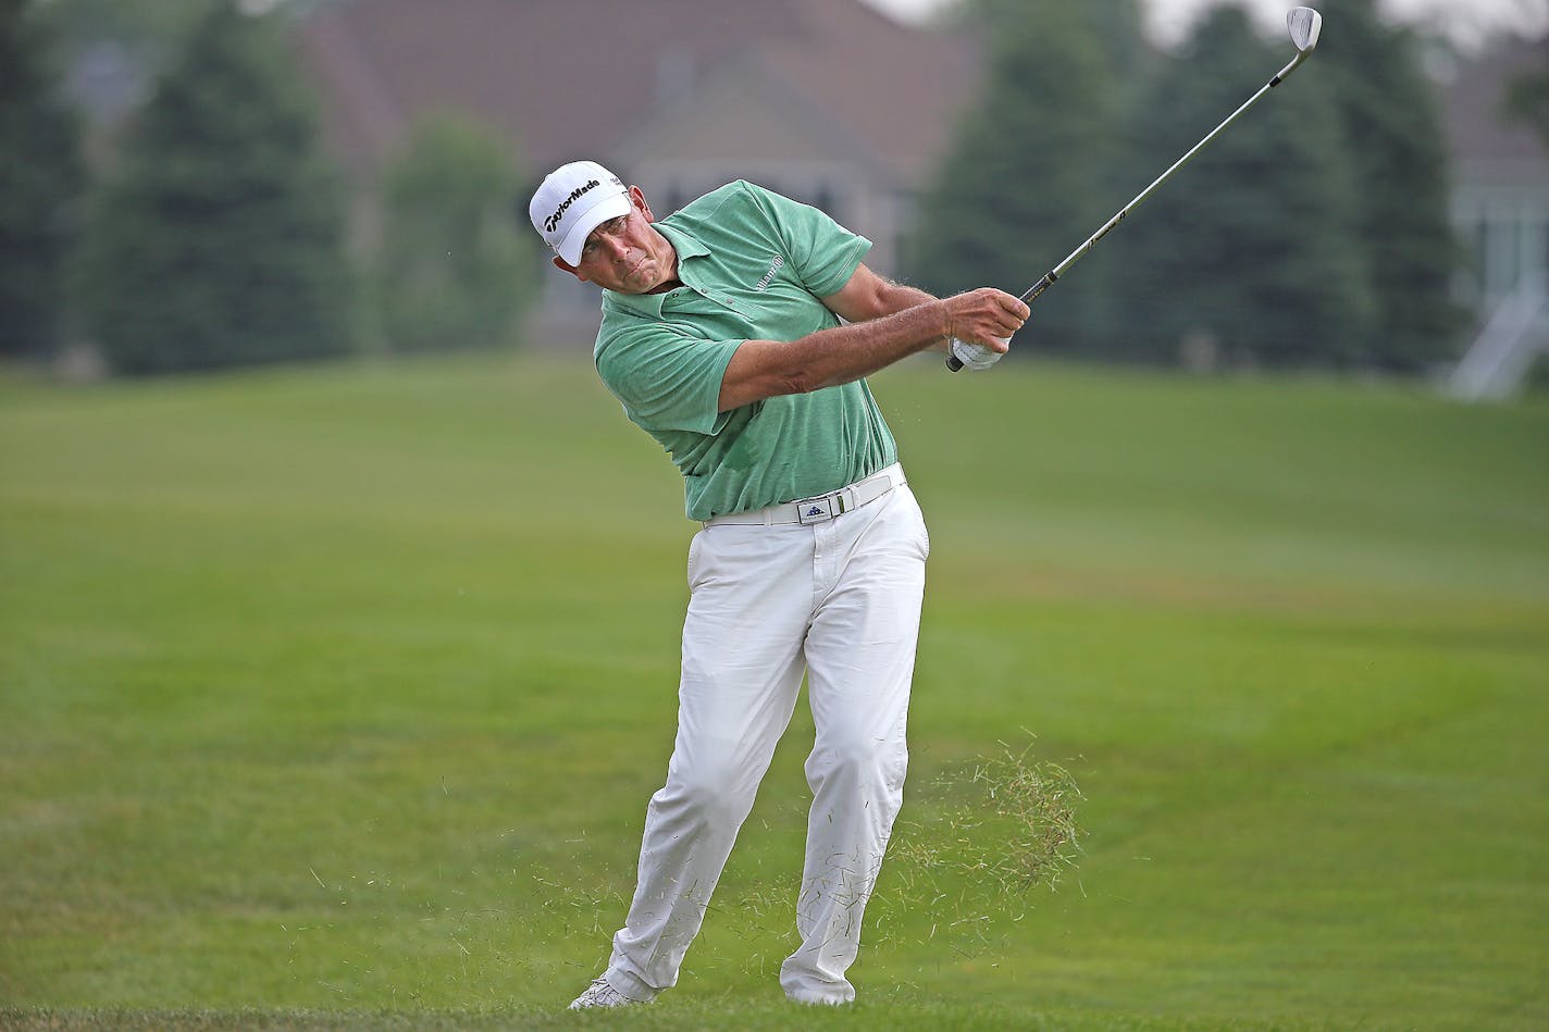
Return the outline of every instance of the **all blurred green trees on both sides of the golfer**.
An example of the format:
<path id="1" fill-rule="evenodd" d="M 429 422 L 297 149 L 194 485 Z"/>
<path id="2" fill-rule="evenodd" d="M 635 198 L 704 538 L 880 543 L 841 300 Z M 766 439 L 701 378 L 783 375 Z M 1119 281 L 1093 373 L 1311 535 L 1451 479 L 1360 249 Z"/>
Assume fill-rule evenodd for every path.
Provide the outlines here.
<path id="1" fill-rule="evenodd" d="M 1233 6 L 1174 53 L 1146 42 L 1139 0 L 960 11 L 982 91 L 902 270 L 937 293 L 1038 280 L 1292 54 Z M 1019 350 L 1394 372 L 1456 352 L 1462 249 L 1422 40 L 1374 0 L 1324 17 L 1310 64 L 1039 298 Z M 60 101 L 50 45 L 102 20 L 170 51 L 107 144 Z M 90 339 L 113 370 L 156 373 L 513 341 L 541 254 L 510 144 L 420 124 L 352 240 L 305 84 L 282 17 L 232 0 L 5 0 L 0 356 Z"/>

